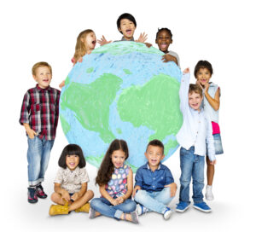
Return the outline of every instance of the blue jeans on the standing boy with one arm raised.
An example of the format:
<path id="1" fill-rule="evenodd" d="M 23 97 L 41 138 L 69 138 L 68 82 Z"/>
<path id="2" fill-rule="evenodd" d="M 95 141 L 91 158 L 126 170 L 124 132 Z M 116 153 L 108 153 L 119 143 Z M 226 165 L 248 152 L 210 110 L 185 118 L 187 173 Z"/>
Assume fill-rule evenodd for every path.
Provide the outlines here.
<path id="1" fill-rule="evenodd" d="M 179 201 L 190 203 L 189 201 L 189 184 L 193 177 L 193 200 L 194 203 L 203 201 L 202 189 L 204 188 L 204 167 L 205 157 L 194 154 L 195 147 L 180 148 L 180 192 Z"/>

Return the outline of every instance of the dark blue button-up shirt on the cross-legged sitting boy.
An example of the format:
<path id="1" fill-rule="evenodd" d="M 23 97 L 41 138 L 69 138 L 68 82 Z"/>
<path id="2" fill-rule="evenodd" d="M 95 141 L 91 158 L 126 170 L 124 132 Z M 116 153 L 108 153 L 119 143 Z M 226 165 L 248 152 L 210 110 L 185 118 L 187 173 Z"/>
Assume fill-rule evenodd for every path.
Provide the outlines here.
<path id="1" fill-rule="evenodd" d="M 151 171 L 148 163 L 141 166 L 135 176 L 135 186 L 140 186 L 148 192 L 161 191 L 165 185 L 173 183 L 172 172 L 166 165 L 160 163 L 158 169 Z"/>

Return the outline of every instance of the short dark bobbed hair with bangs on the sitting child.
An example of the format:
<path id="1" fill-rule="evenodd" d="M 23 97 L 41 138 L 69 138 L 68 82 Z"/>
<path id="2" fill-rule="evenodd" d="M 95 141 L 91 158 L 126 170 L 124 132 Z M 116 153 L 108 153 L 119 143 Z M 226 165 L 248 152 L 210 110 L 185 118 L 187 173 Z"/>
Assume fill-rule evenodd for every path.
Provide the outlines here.
<path id="1" fill-rule="evenodd" d="M 62 151 L 61 157 L 59 159 L 59 166 L 66 169 L 67 164 L 66 164 L 66 156 L 67 155 L 72 155 L 76 154 L 79 156 L 79 168 L 82 168 L 86 165 L 86 161 L 84 159 L 84 154 L 82 149 L 79 147 L 77 144 L 68 144 Z"/>

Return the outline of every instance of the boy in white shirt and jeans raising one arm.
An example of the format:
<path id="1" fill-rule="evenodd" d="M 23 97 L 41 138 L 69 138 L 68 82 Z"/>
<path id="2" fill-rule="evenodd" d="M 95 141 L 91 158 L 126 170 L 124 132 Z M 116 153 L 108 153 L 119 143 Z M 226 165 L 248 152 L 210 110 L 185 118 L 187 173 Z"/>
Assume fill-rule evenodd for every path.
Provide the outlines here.
<path id="1" fill-rule="evenodd" d="M 188 209 L 189 183 L 193 177 L 194 207 L 202 212 L 211 212 L 211 208 L 203 201 L 205 155 L 215 165 L 215 150 L 212 136 L 212 124 L 207 114 L 201 109 L 203 99 L 199 85 L 189 84 L 189 68 L 183 71 L 179 90 L 180 109 L 183 113 L 183 125 L 177 133 L 180 148 L 180 193 L 176 211 Z"/>

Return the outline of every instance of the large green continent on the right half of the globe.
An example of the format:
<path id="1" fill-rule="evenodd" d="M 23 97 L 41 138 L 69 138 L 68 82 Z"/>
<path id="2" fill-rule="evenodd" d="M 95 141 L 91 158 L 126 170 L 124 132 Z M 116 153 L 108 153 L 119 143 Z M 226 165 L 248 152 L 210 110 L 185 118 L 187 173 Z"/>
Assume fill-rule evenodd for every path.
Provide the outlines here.
<path id="1" fill-rule="evenodd" d="M 119 96 L 119 116 L 135 127 L 144 125 L 154 130 L 149 141 L 154 138 L 163 140 L 167 135 L 176 134 L 183 123 L 177 103 L 178 90 L 177 80 L 165 74 L 154 76 L 143 86 L 131 86 Z M 166 113 L 161 113 L 163 110 Z"/>

